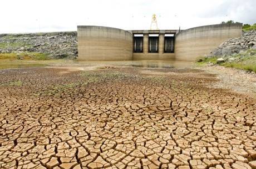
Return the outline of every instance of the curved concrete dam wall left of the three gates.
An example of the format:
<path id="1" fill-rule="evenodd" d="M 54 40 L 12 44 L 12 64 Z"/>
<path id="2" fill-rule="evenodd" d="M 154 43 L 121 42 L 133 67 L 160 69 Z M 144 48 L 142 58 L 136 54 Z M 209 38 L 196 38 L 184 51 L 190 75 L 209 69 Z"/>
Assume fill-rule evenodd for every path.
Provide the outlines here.
<path id="1" fill-rule="evenodd" d="M 122 29 L 78 26 L 78 60 L 131 60 L 132 34 Z"/>

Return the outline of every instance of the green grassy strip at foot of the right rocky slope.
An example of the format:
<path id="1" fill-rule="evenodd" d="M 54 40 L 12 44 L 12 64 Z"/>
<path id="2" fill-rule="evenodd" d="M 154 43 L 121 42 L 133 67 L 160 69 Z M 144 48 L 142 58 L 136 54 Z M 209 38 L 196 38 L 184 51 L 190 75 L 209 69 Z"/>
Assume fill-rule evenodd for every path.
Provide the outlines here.
<path id="1" fill-rule="evenodd" d="M 199 58 L 197 64 L 199 66 L 203 66 L 208 64 L 209 62 L 212 64 L 217 64 L 217 59 L 220 57 L 213 58 Z M 249 49 L 244 53 L 233 54 L 232 60 L 228 60 L 228 58 L 224 58 L 224 63 L 218 63 L 221 66 L 225 66 L 228 68 L 235 69 L 243 69 L 247 71 L 254 71 L 256 73 L 256 50 Z"/>

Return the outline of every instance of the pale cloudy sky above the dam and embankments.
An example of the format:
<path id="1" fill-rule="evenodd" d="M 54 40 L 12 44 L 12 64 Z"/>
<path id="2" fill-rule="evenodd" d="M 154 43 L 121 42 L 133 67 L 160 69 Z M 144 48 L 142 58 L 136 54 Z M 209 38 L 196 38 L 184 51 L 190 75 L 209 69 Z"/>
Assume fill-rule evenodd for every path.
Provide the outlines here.
<path id="1" fill-rule="evenodd" d="M 256 23 L 255 0 L 1 0 L 0 33 L 76 30 L 77 25 L 186 29 L 230 19 Z"/>

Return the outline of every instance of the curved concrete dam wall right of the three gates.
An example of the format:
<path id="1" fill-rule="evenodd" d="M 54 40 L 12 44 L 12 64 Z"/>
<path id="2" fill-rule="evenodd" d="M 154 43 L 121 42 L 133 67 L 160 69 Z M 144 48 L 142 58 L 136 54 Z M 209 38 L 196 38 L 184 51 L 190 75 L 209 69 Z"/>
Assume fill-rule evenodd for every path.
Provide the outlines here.
<path id="1" fill-rule="evenodd" d="M 175 59 L 190 61 L 209 54 L 225 40 L 240 37 L 242 26 L 215 24 L 183 30 L 175 38 Z"/>

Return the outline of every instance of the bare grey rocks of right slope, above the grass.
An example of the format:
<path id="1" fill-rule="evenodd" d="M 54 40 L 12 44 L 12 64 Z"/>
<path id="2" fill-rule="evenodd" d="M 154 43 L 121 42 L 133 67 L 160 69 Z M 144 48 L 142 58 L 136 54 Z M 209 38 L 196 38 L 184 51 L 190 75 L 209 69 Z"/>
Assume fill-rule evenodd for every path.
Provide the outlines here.
<path id="1" fill-rule="evenodd" d="M 213 50 L 209 57 L 225 57 L 231 54 L 237 54 L 241 50 L 256 49 L 256 30 L 243 32 L 239 38 L 231 38 L 219 45 Z"/>

